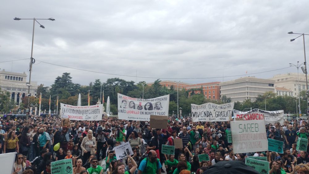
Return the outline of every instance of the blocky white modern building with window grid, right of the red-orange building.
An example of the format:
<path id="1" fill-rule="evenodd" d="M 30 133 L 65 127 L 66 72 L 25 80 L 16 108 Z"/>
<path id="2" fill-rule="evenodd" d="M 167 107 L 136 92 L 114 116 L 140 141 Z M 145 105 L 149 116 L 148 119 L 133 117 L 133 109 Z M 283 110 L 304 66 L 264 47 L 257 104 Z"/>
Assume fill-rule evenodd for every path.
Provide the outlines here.
<path id="1" fill-rule="evenodd" d="M 251 100 L 254 102 L 256 97 L 263 95 L 265 92 L 275 92 L 275 80 L 258 79 L 256 77 L 242 77 L 239 79 L 221 82 L 221 98 L 225 95 L 231 98 L 232 102 L 244 102 Z"/>

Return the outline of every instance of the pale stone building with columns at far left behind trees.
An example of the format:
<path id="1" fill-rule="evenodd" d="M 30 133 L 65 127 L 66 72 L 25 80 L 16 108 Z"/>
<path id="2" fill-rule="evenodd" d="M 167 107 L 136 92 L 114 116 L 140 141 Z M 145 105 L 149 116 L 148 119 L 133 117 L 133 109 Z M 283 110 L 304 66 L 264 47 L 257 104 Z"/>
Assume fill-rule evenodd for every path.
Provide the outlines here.
<path id="1" fill-rule="evenodd" d="M 28 95 L 27 74 L 8 72 L 4 69 L 0 71 L 0 88 L 11 94 L 11 99 L 17 104 L 22 102 L 22 98 Z M 30 96 L 36 96 L 37 82 L 31 82 Z"/>

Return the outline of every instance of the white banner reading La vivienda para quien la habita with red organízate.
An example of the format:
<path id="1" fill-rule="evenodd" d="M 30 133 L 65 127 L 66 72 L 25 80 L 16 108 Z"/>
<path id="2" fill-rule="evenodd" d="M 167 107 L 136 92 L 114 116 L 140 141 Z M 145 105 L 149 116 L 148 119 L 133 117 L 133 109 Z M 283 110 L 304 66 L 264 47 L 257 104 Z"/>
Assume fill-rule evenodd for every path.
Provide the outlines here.
<path id="1" fill-rule="evenodd" d="M 102 120 L 103 104 L 91 106 L 72 106 L 60 103 L 61 118 L 70 120 L 99 121 Z"/>

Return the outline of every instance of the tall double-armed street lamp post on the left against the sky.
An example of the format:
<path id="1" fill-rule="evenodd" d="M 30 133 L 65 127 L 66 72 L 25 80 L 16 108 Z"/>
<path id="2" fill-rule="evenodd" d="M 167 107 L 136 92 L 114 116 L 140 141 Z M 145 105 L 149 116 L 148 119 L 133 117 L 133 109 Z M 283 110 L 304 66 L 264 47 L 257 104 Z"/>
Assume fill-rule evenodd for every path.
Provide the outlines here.
<path id="1" fill-rule="evenodd" d="M 35 63 L 35 59 L 32 57 L 33 55 L 33 40 L 34 40 L 34 24 L 35 22 L 39 23 L 37 20 L 51 20 L 51 21 L 54 21 L 55 19 L 53 18 L 48 18 L 48 19 L 36 19 L 36 18 L 33 18 L 33 19 L 21 19 L 21 18 L 14 18 L 14 20 L 33 20 L 33 29 L 32 29 L 32 46 L 31 46 L 31 57 L 30 57 L 30 67 L 29 67 L 29 84 L 27 85 L 28 86 L 28 106 L 27 108 L 29 109 L 30 111 L 30 108 L 29 108 L 29 98 L 30 98 L 30 86 L 31 86 L 31 72 L 32 72 L 32 64 Z M 39 23 L 40 24 L 40 23 Z M 43 25 L 40 24 L 40 27 L 41 28 L 45 28 Z M 28 113 L 29 114 L 29 113 Z M 28 120 L 28 114 L 26 115 L 26 120 Z"/>

